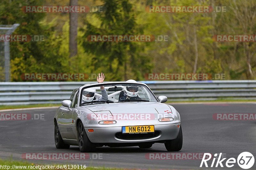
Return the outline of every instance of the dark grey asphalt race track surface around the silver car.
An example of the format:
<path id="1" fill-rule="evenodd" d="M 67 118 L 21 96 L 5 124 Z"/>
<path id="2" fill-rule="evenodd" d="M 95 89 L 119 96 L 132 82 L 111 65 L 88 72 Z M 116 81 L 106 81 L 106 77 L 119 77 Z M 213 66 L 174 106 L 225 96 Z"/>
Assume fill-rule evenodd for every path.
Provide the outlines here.
<path id="1" fill-rule="evenodd" d="M 237 158 L 241 152 L 256 156 L 256 121 L 214 120 L 214 113 L 256 113 L 256 104 L 179 104 L 174 106 L 180 113 L 183 131 L 183 147 L 175 153 L 220 153 L 226 158 Z M 56 108 L 5 111 L 1 113 L 44 114 L 44 120 L 0 121 L 0 158 L 22 159 L 24 153 L 80 153 L 78 146 L 56 149 L 54 144 L 53 117 Z M 92 159 L 97 153 L 102 159 Z M 100 147 L 89 153 L 86 160 L 28 160 L 39 164 L 76 164 L 93 167 L 120 167 L 142 169 L 241 169 L 237 163 L 232 168 L 200 168 L 201 159 L 147 159 L 149 153 L 167 152 L 164 144 L 152 148 Z M 95 156 L 95 155 L 94 155 Z M 227 160 L 227 159 L 226 159 Z M 225 163 L 226 161 L 224 161 Z M 210 166 L 212 162 L 209 162 Z M 216 163 L 216 161 L 215 161 Z M 214 164 L 215 166 L 215 164 Z M 256 169 L 256 163 L 251 169 Z"/>

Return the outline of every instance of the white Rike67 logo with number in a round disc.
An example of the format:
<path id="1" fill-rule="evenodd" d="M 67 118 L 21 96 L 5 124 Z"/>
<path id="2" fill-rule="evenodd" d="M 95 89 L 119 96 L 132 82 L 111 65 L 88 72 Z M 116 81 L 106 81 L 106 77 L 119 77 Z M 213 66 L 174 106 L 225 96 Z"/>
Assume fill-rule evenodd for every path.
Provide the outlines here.
<path id="1" fill-rule="evenodd" d="M 218 155 L 219 155 L 219 157 L 217 158 Z M 235 158 L 229 158 L 229 159 L 223 158 L 223 159 L 221 159 L 221 155 L 222 155 L 222 153 L 220 153 L 220 154 L 215 153 L 214 157 L 212 159 L 212 154 L 211 153 L 204 153 L 204 156 L 203 156 L 203 159 L 201 161 L 200 167 L 202 167 L 203 164 L 204 164 L 205 167 L 208 167 L 207 161 L 209 161 L 210 159 L 212 159 L 212 164 L 211 164 L 210 167 L 214 167 L 216 159 L 217 159 L 217 161 L 216 161 L 215 167 L 218 167 L 219 165 L 220 165 L 220 167 L 224 167 L 223 166 L 223 164 L 224 164 L 226 167 L 231 168 L 231 167 L 234 166 L 234 164 L 236 162 L 243 169 L 249 169 L 254 165 L 254 156 L 250 152 L 240 153 L 238 155 L 237 159 L 235 159 Z M 225 159 L 227 159 L 226 163 L 224 163 Z M 210 163 L 210 161 L 209 161 L 209 163 Z"/>

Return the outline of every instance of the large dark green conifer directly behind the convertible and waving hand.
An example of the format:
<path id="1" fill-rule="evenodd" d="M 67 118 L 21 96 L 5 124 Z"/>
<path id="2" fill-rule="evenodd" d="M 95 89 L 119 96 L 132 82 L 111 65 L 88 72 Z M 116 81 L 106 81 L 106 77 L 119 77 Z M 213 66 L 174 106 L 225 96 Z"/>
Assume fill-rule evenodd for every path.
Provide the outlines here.
<path id="1" fill-rule="evenodd" d="M 90 35 L 139 35 L 143 27 L 136 23 L 135 12 L 128 0 L 104 0 L 106 11 L 87 18 L 84 35 L 80 39 L 85 52 L 93 54 L 93 70 L 111 73 L 111 80 L 143 79 L 151 69 L 150 59 L 140 55 L 142 42 L 90 42 Z"/>

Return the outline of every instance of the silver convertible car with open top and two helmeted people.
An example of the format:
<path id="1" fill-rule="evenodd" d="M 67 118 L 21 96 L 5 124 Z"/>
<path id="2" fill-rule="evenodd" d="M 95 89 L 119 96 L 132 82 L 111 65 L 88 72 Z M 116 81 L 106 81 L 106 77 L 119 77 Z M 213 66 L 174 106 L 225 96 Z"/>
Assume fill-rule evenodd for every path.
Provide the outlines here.
<path id="1" fill-rule="evenodd" d="M 166 101 L 134 80 L 83 85 L 56 111 L 56 148 L 77 145 L 81 152 L 91 152 L 104 145 L 150 148 L 164 143 L 167 151 L 180 151 L 180 114 Z"/>

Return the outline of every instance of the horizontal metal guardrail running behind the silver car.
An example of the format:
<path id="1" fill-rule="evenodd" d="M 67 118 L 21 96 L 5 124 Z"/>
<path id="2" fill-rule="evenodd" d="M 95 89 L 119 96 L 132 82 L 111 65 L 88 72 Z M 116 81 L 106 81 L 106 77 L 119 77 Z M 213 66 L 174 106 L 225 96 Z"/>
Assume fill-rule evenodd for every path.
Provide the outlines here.
<path id="1" fill-rule="evenodd" d="M 256 80 L 141 82 L 169 100 L 256 99 Z M 0 82 L 0 105 L 60 103 L 87 83 L 96 82 Z"/>

